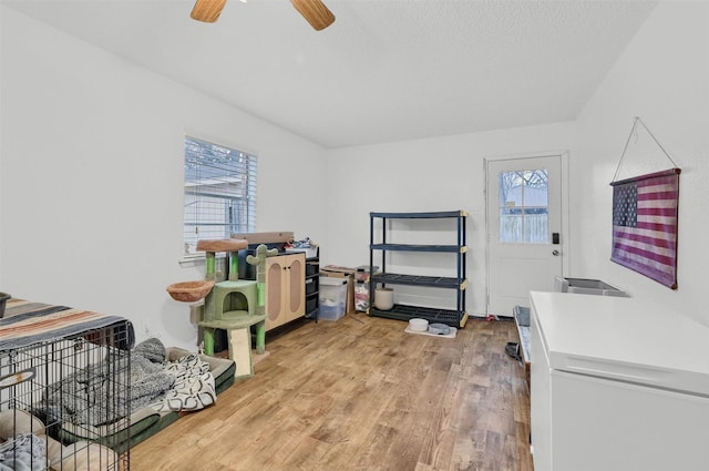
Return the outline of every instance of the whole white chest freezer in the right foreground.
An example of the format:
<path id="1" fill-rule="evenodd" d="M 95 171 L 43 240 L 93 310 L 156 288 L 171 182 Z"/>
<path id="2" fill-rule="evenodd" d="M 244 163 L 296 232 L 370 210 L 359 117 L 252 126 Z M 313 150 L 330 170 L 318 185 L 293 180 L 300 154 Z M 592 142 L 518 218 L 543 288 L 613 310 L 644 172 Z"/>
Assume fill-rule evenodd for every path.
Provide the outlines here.
<path id="1" fill-rule="evenodd" d="M 637 298 L 530 300 L 535 471 L 709 470 L 709 327 Z"/>

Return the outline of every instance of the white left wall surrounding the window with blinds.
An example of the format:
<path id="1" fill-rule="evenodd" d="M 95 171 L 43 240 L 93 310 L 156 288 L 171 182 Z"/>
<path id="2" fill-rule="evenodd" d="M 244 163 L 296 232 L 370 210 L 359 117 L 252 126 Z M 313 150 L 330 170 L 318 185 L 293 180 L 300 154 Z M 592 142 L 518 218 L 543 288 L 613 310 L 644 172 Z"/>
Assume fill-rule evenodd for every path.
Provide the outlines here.
<path id="1" fill-rule="evenodd" d="M 184 135 L 258 154 L 258 231 L 326 243 L 321 147 L 0 7 L 0 280 L 194 348 L 181 268 Z M 298 165 L 292 165 L 298 162 Z"/>

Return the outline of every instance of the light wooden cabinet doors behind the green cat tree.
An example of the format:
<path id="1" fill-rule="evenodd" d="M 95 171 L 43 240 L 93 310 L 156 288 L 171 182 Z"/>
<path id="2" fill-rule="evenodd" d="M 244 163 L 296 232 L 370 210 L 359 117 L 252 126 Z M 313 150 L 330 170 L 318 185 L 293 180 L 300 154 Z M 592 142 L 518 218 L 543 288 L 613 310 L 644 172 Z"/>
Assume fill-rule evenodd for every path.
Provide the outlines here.
<path id="1" fill-rule="evenodd" d="M 305 315 L 305 254 L 266 259 L 266 330 Z"/>

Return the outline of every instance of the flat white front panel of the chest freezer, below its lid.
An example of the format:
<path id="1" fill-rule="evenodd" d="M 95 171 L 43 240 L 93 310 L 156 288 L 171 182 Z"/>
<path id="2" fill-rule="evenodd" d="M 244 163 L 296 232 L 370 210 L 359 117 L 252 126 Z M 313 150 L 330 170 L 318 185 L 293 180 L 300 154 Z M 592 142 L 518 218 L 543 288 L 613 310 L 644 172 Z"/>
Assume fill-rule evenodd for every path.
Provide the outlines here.
<path id="1" fill-rule="evenodd" d="M 707 469 L 705 397 L 556 370 L 552 395 L 552 470 Z"/>

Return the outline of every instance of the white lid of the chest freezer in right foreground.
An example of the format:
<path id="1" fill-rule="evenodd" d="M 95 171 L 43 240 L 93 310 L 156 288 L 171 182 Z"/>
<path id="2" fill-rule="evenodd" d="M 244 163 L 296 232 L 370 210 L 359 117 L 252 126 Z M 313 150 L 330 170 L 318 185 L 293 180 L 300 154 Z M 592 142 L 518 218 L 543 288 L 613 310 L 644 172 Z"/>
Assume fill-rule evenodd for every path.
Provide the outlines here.
<path id="1" fill-rule="evenodd" d="M 530 299 L 552 369 L 709 397 L 709 326 L 639 298 L 533 291 Z"/>

